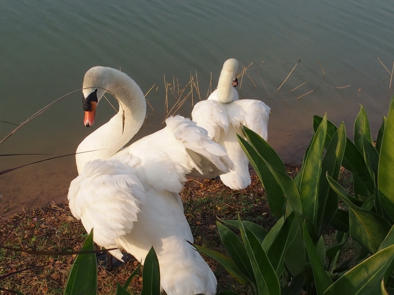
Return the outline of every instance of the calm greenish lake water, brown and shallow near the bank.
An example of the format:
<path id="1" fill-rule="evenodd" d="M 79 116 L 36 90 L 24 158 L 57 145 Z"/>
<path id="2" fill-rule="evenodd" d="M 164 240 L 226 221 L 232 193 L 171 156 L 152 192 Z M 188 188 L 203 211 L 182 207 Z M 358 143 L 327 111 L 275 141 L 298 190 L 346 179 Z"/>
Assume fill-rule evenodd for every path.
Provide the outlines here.
<path id="1" fill-rule="evenodd" d="M 0 0 L 0 121 L 8 122 L 0 122 L 0 139 L 16 127 L 10 123 L 80 89 L 95 65 L 120 68 L 145 93 L 153 86 L 152 109 L 137 135 L 144 136 L 162 128 L 178 98 L 174 84 L 198 81 L 200 97 L 194 90 L 176 112 L 190 117 L 211 75 L 214 89 L 223 62 L 236 58 L 250 65 L 241 97 L 271 107 L 268 142 L 284 161 L 299 161 L 313 115 L 344 121 L 352 138 L 362 104 L 376 136 L 394 89 L 393 16 L 391 0 Z M 70 154 L 114 115 L 103 101 L 95 126 L 85 128 L 81 95 L 66 96 L 0 145 L 0 154 L 47 155 L 1 156 L 0 171 Z M 65 202 L 75 176 L 73 156 L 0 176 L 0 216 Z"/>

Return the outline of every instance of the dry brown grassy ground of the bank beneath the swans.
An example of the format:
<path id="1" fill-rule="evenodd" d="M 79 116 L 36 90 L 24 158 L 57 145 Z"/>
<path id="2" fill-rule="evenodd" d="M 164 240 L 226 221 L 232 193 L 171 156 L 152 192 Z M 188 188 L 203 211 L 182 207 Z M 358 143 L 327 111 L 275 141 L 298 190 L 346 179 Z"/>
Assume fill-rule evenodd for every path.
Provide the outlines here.
<path id="1" fill-rule="evenodd" d="M 291 172 L 289 172 L 291 173 Z M 275 222 L 266 204 L 265 193 L 256 176 L 244 190 L 233 191 L 220 180 L 189 179 L 182 192 L 185 215 L 191 225 L 195 242 L 224 252 L 216 230 L 217 217 L 257 222 L 269 229 Z M 67 205 L 52 204 L 26 214 L 3 220 L 0 236 L 3 246 L 35 251 L 77 251 L 87 236 L 80 221 L 72 217 Z M 75 255 L 33 255 L 0 249 L 0 288 L 23 294 L 63 294 L 69 268 Z M 207 259 L 219 281 L 219 290 L 234 289 L 237 283 L 216 262 Z M 98 294 L 115 294 L 116 282 L 125 283 L 138 266 L 135 260 L 112 272 L 99 266 Z M 141 290 L 137 276 L 132 290 Z M 239 292 L 247 291 L 237 287 Z M 242 291 L 243 290 L 243 291 Z"/>

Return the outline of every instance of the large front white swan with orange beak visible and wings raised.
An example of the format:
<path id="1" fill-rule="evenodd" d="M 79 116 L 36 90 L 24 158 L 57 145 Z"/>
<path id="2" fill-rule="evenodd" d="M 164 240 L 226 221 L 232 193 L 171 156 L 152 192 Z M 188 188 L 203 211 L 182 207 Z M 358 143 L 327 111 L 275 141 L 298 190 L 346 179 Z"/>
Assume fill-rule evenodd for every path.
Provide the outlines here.
<path id="1" fill-rule="evenodd" d="M 119 151 L 144 121 L 145 97 L 126 74 L 91 68 L 83 83 L 86 126 L 93 124 L 106 91 L 119 100 L 120 111 L 77 148 L 79 176 L 68 191 L 72 214 L 87 232 L 94 228 L 97 244 L 124 249 L 141 263 L 153 246 L 168 295 L 214 295 L 212 270 L 187 242 L 193 236 L 178 193 L 187 174 L 212 177 L 229 171 L 226 151 L 206 130 L 180 116 L 168 118 L 164 129 Z M 110 252 L 122 260 L 120 250 Z"/>

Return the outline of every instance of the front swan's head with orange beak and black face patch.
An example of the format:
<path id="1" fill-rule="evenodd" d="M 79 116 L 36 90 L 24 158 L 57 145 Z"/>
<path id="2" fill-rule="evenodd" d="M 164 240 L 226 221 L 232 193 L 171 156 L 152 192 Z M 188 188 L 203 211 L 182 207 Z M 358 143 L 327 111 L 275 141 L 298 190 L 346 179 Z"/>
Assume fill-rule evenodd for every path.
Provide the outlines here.
<path id="1" fill-rule="evenodd" d="M 95 66 L 88 70 L 83 79 L 83 97 L 82 104 L 85 111 L 84 125 L 90 127 L 93 125 L 96 116 L 96 106 L 101 97 L 107 92 L 111 80 L 109 77 L 110 68 Z"/>

